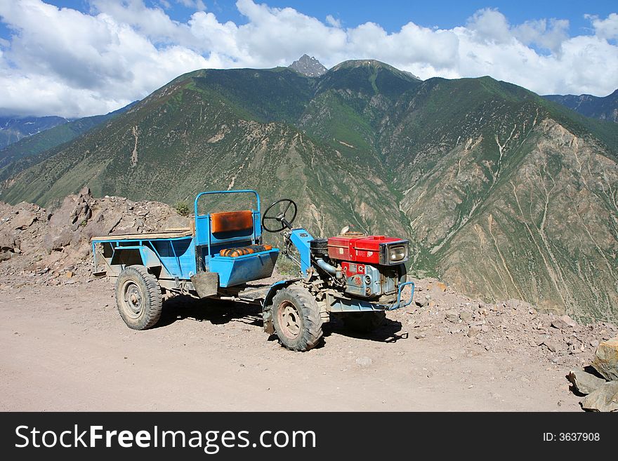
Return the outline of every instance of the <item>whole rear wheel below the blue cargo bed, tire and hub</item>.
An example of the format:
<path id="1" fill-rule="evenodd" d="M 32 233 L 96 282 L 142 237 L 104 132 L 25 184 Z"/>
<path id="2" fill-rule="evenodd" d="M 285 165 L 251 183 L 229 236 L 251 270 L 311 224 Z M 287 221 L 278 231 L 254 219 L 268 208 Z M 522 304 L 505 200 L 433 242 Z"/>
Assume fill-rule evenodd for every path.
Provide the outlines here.
<path id="1" fill-rule="evenodd" d="M 144 266 L 125 267 L 116 282 L 116 305 L 129 328 L 145 330 L 155 326 L 162 310 L 157 278 Z"/>

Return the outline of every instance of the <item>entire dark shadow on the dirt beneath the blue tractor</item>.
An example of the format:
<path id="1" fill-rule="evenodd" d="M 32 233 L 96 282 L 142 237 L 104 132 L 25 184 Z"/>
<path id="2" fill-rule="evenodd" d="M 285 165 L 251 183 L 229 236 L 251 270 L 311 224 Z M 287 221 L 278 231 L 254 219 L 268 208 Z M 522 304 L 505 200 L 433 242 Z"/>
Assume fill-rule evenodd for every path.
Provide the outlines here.
<path id="1" fill-rule="evenodd" d="M 196 300 L 190 296 L 174 296 L 163 302 L 161 319 L 154 328 L 164 328 L 177 321 L 208 321 L 215 325 L 221 325 L 230 321 L 239 321 L 246 325 L 262 328 L 262 308 L 259 305 L 246 305 L 239 302 L 223 300 Z M 343 335 L 349 338 L 369 340 L 375 342 L 397 342 L 407 339 L 408 333 L 399 333 L 402 324 L 399 321 L 386 319 L 376 330 L 369 333 L 361 333 L 352 330 L 338 319 L 331 316 L 331 321 L 324 323 L 324 339 L 330 335 Z M 276 341 L 276 335 L 270 335 L 270 341 Z M 322 347 L 324 342 L 321 343 Z"/>

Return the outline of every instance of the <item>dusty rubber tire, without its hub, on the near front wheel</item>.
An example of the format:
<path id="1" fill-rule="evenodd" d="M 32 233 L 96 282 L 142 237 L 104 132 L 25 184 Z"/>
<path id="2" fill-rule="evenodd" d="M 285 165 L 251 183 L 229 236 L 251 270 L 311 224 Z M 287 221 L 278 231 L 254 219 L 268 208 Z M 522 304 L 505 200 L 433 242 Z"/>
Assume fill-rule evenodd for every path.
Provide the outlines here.
<path id="1" fill-rule="evenodd" d="M 289 338 L 283 333 L 279 323 L 279 309 L 282 302 L 290 302 L 298 313 L 300 332 L 294 339 Z M 283 347 L 296 352 L 306 352 L 320 344 L 322 340 L 322 318 L 320 317 L 320 307 L 313 295 L 302 286 L 290 285 L 282 288 L 272 298 L 272 326 L 275 334 Z"/>

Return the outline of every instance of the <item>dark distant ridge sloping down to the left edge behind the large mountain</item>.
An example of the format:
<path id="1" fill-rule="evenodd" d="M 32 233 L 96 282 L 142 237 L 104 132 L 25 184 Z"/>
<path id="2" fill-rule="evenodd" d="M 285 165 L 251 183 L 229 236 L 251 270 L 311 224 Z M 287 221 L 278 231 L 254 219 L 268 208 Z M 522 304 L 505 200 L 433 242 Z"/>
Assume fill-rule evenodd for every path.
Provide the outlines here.
<path id="1" fill-rule="evenodd" d="M 21 159 L 22 157 L 35 156 L 40 152 L 44 152 L 48 149 L 52 149 L 53 147 L 62 145 L 65 142 L 69 142 L 70 140 L 77 138 L 79 135 L 90 131 L 101 123 L 113 119 L 114 116 L 126 112 L 129 108 L 136 104 L 137 101 L 131 102 L 131 104 L 105 115 L 83 117 L 74 121 L 67 121 L 65 119 L 65 123 L 59 123 L 58 125 L 50 127 L 45 131 L 29 135 L 27 138 L 22 138 L 18 142 L 14 142 L 13 144 L 0 150 L 0 166 L 4 166 L 10 161 Z M 46 119 L 56 117 L 43 118 Z"/>

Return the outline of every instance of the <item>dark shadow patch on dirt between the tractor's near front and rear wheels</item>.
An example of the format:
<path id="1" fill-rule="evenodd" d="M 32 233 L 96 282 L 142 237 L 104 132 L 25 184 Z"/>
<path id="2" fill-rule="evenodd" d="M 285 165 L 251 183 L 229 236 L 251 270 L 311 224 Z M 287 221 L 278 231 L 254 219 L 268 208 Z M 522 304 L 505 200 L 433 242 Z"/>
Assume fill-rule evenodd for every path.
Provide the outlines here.
<path id="1" fill-rule="evenodd" d="M 174 296 L 163 302 L 161 319 L 154 328 L 163 328 L 183 320 L 209 321 L 221 325 L 240 321 L 246 325 L 262 326 L 262 309 L 258 305 L 246 305 L 222 300 L 196 300 L 190 296 Z"/>

